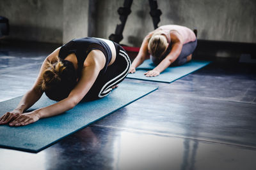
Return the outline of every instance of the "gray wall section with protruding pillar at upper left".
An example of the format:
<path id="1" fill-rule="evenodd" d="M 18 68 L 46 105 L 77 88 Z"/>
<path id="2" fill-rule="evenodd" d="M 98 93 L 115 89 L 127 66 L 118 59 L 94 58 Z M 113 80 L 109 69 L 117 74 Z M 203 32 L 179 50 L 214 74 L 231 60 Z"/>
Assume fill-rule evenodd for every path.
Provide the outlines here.
<path id="1" fill-rule="evenodd" d="M 0 0 L 9 39 L 67 43 L 87 36 L 89 0 Z"/>

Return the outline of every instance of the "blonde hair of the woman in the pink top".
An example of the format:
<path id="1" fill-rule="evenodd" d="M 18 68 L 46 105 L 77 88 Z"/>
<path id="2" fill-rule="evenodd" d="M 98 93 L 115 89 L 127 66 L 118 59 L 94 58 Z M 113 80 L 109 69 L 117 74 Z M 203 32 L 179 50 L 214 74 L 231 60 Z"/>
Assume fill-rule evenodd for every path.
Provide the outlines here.
<path id="1" fill-rule="evenodd" d="M 151 38 L 148 39 L 148 50 L 154 57 L 161 57 L 161 54 L 167 48 L 168 42 L 163 32 L 155 32 Z"/>

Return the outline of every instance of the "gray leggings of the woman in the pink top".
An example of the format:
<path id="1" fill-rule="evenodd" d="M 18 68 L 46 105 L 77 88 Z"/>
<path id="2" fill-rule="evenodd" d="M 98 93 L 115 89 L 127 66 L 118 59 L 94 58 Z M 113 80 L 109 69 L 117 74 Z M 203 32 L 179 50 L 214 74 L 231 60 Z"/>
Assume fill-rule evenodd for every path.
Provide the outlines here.
<path id="1" fill-rule="evenodd" d="M 191 41 L 189 43 L 184 44 L 182 46 L 182 50 L 180 52 L 179 57 L 171 64 L 171 66 L 181 66 L 181 65 L 185 64 L 187 62 L 188 55 L 190 55 L 191 53 L 193 53 L 195 51 L 196 45 L 197 45 L 197 39 L 195 41 Z M 171 50 L 172 49 L 170 49 L 168 53 L 170 53 Z M 150 59 L 156 65 L 158 65 L 161 62 L 161 60 L 155 59 L 152 56 L 150 56 Z"/>

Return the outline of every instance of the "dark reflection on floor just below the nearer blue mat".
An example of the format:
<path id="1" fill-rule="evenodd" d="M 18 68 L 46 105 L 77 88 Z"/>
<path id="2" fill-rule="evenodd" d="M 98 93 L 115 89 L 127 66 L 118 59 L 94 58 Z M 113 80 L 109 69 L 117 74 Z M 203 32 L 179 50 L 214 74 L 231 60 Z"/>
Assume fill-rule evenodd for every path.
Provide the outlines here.
<path id="1" fill-rule="evenodd" d="M 81 169 L 81 167 L 101 169 L 102 164 L 93 165 L 95 162 L 92 162 L 92 159 L 97 159 L 100 150 L 102 150 L 100 139 L 91 127 L 86 127 L 45 150 L 47 169 Z"/>

